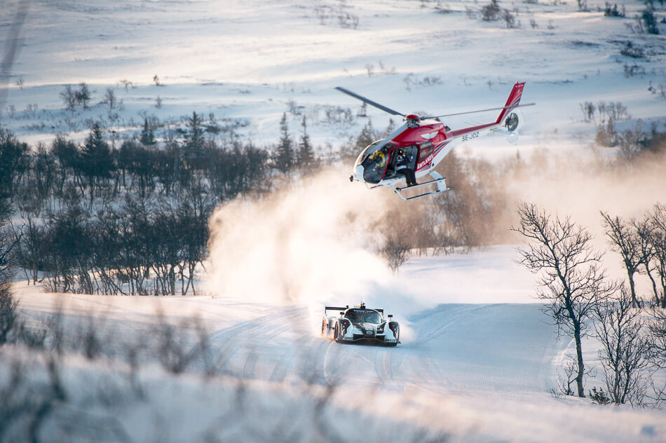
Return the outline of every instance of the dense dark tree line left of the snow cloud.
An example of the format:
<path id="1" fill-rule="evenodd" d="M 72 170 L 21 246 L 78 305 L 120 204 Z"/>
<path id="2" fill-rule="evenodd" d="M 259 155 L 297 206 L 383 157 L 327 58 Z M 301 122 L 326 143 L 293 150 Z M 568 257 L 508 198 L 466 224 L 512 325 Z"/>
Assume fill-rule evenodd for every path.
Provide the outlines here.
<path id="1" fill-rule="evenodd" d="M 318 163 L 305 121 L 295 143 L 283 117 L 273 152 L 221 146 L 196 112 L 184 123 L 182 139 L 158 141 L 145 119 L 118 147 L 100 123 L 81 143 L 57 135 L 34 148 L 0 128 L 0 200 L 15 213 L 4 221 L 28 281 L 59 292 L 196 293 L 215 207 Z"/>

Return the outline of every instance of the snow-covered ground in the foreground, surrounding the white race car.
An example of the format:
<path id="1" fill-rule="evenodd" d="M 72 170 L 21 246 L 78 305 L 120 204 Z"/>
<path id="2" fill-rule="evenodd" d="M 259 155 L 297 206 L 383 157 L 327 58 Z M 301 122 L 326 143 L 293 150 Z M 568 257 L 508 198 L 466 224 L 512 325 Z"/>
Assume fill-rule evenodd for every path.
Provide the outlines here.
<path id="1" fill-rule="evenodd" d="M 92 408 L 93 418 L 82 418 L 73 435 L 95 428 L 102 441 L 115 441 L 118 429 L 132 441 L 158 433 L 174 442 L 414 442 L 427 436 L 469 442 L 663 441 L 662 410 L 599 407 L 551 395 L 573 343 L 557 340 L 541 304 L 529 296 L 531 278 L 511 264 L 514 255 L 512 248 L 498 247 L 414 259 L 402 268 L 391 282 L 397 289 L 367 300 L 401 322 L 397 348 L 323 339 L 313 327 L 322 306 L 312 303 L 47 294 L 21 282 L 15 290 L 32 321 L 60 311 L 68 335 L 83 334 L 92 321 L 107 343 L 106 355 L 93 362 L 76 355 L 62 359 L 69 407 Z M 503 274 L 491 280 L 494 299 L 483 269 Z M 418 287 L 409 291 L 416 281 L 425 286 L 423 280 L 432 282 L 429 294 Z M 335 301 L 353 304 L 354 295 L 362 297 Z M 128 369 L 127 349 L 149 342 L 160 321 L 182 325 L 179 340 L 194 352 L 201 336 L 192 318 L 206 331 L 208 351 L 184 375 L 170 376 L 155 362 Z M 590 365 L 598 364 L 596 346 L 585 343 Z M 206 371 L 216 375 L 197 375 Z M 586 386 L 601 382 L 590 377 Z M 50 416 L 44 432 L 58 429 L 60 414 Z"/>

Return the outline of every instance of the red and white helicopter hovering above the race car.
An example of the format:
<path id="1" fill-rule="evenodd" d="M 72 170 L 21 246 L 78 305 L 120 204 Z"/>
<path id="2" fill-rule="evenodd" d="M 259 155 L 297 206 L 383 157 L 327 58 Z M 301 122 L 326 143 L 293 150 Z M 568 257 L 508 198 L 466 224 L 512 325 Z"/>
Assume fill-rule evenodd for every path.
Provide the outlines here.
<path id="1" fill-rule="evenodd" d="M 534 103 L 519 104 L 524 86 L 524 82 L 516 82 L 506 104 L 500 108 L 428 117 L 418 114 L 402 114 L 338 86 L 336 89 L 342 93 L 351 95 L 388 114 L 402 116 L 405 122 L 386 138 L 376 140 L 363 149 L 354 163 L 353 173 L 349 177 L 350 181 L 357 180 L 365 183 L 370 189 L 386 186 L 393 189 L 402 200 L 414 200 L 449 191 L 446 178 L 436 172 L 435 167 L 455 146 L 491 132 L 505 135 L 509 142 L 517 141 L 517 129 L 523 122 L 522 113 L 517 108 L 534 105 Z M 458 130 L 451 130 L 439 121 L 439 118 L 443 117 L 497 110 L 500 113 L 495 121 Z M 416 182 L 416 179 L 426 175 L 430 175 L 432 180 L 423 183 Z M 405 193 L 407 189 L 410 192 Z M 419 191 L 426 189 L 426 191 L 411 195 L 412 189 L 419 189 Z"/>

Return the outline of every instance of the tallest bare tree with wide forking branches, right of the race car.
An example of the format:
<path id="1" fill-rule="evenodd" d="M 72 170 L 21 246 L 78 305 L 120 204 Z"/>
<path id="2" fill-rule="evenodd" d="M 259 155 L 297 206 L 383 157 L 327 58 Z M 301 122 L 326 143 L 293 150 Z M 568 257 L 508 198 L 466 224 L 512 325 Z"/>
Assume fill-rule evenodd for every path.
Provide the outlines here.
<path id="1" fill-rule="evenodd" d="M 576 390 L 585 397 L 582 339 L 594 303 L 611 292 L 602 268 L 602 254 L 592 249 L 590 233 L 571 221 L 560 219 L 536 205 L 522 203 L 518 207 L 520 222 L 512 226 L 529 242 L 519 248 L 519 264 L 541 278 L 538 298 L 548 301 L 543 312 L 557 325 L 558 334 L 573 336 L 576 343 Z"/>

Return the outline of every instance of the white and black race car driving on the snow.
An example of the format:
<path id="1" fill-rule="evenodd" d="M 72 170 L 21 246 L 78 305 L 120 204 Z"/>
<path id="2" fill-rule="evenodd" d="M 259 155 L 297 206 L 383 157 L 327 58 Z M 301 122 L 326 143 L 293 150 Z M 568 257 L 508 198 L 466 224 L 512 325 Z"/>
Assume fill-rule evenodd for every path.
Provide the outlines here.
<path id="1" fill-rule="evenodd" d="M 328 315 L 327 311 L 339 311 L 339 315 Z M 326 306 L 322 335 L 338 343 L 374 341 L 397 346 L 400 343 L 400 325 L 393 321 L 393 315 L 388 315 L 387 320 L 383 314 L 383 309 L 369 309 L 365 304 L 353 308 Z"/>

